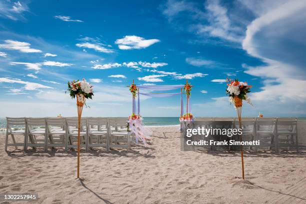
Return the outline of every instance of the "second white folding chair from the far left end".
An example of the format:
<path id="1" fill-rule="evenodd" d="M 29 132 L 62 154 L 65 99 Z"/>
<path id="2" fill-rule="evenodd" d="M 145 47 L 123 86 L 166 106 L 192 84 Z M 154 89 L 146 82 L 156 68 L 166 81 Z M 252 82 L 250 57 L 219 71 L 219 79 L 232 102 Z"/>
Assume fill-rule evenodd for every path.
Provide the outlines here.
<path id="1" fill-rule="evenodd" d="M 45 117 L 26 117 L 27 136 L 25 137 L 25 150 L 30 146 L 46 148 Z M 28 142 L 29 141 L 29 142 Z"/>

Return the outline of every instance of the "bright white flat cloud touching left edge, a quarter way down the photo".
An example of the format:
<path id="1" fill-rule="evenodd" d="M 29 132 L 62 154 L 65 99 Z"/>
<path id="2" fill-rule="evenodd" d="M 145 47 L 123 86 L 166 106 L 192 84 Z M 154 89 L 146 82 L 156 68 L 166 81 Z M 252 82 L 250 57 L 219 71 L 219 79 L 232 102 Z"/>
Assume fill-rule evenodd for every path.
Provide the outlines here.
<path id="1" fill-rule="evenodd" d="M 20 42 L 15 40 L 6 39 L 4 44 L 0 44 L 0 48 L 19 50 L 20 52 L 31 53 L 31 52 L 41 52 L 39 49 L 34 49 L 30 47 L 28 42 Z"/>

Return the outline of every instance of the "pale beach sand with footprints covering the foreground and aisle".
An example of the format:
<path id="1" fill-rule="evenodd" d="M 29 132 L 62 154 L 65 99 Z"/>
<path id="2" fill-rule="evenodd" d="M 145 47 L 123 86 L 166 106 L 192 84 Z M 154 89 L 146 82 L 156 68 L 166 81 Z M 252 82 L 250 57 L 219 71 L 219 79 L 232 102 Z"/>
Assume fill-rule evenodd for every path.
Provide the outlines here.
<path id="1" fill-rule="evenodd" d="M 82 151 L 82 180 L 75 152 L 6 153 L 1 135 L 0 193 L 38 193 L 31 203 L 306 203 L 306 152 L 246 153 L 243 181 L 239 152 L 180 151 L 177 126 L 151 129 L 149 147 Z"/>

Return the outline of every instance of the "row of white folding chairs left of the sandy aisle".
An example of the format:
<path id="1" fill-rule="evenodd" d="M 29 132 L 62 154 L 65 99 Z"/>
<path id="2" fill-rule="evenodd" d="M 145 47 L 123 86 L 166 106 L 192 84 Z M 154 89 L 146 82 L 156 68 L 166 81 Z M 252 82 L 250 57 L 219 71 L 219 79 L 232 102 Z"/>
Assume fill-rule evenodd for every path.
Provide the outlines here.
<path id="1" fill-rule="evenodd" d="M 110 122 L 108 123 L 108 121 Z M 23 126 L 21 130 L 14 130 L 13 125 Z M 87 128 L 88 125 L 88 128 Z M 92 126 L 96 125 L 95 130 Z M 77 144 L 77 117 L 46 117 L 46 118 L 9 118 L 7 117 L 7 131 L 5 150 L 7 146 L 22 145 L 23 149 L 42 146 L 45 151 L 48 147 L 63 146 L 76 148 Z M 23 143 L 16 143 L 14 135 L 22 135 Z M 11 135 L 13 143 L 7 143 L 8 135 Z M 87 136 L 88 135 L 88 136 Z M 37 138 L 38 137 L 38 138 Z M 42 137 L 42 138 L 41 138 Z M 97 137 L 97 138 L 95 138 Z M 114 137 L 115 139 L 111 139 Z M 80 147 L 88 148 L 102 146 L 106 149 L 111 147 L 130 147 L 130 137 L 126 130 L 126 118 L 103 118 L 88 117 L 80 120 Z M 29 141 L 29 142 L 28 142 Z M 41 142 L 42 141 L 42 142 Z M 112 142 L 110 142 L 112 141 Z M 119 144 L 125 141 L 126 145 Z M 38 143 L 39 142 L 39 143 Z"/>

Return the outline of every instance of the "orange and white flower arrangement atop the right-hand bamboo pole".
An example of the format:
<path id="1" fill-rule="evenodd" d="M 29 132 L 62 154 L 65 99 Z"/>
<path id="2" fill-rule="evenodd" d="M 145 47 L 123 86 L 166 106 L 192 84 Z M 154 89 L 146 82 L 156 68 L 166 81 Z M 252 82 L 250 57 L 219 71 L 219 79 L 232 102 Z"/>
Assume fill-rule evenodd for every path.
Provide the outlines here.
<path id="1" fill-rule="evenodd" d="M 229 102 L 233 104 L 234 107 L 241 107 L 242 100 L 245 100 L 252 106 L 250 98 L 247 96 L 247 93 L 250 92 L 251 85 L 247 85 L 246 82 L 238 81 L 238 79 L 231 80 L 226 78 L 227 88 L 226 94 L 229 95 Z"/>

